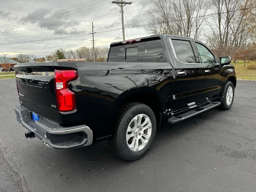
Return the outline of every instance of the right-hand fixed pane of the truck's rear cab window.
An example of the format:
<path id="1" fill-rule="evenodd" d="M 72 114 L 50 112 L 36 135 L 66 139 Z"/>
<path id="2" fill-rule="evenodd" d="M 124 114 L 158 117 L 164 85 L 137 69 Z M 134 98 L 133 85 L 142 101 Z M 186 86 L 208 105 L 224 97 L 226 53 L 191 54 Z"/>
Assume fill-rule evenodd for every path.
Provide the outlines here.
<path id="1" fill-rule="evenodd" d="M 138 62 L 164 62 L 164 51 L 161 40 L 140 42 Z"/>

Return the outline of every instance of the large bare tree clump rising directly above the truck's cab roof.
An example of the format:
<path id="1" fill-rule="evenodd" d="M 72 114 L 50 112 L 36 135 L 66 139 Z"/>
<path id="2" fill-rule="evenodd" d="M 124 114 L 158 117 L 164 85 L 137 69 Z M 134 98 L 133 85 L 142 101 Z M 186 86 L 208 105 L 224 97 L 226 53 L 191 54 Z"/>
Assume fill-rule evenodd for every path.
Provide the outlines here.
<path id="1" fill-rule="evenodd" d="M 152 0 L 152 4 L 147 32 L 199 38 L 209 8 L 206 0 Z"/>

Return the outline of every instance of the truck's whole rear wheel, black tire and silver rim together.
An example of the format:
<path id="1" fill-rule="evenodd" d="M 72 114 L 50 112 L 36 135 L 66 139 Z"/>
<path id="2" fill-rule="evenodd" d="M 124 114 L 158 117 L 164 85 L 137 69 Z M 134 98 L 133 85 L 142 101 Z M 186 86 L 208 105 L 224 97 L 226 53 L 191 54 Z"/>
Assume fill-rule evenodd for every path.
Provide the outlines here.
<path id="1" fill-rule="evenodd" d="M 129 103 L 120 110 L 109 144 L 119 157 L 133 161 L 148 152 L 155 135 L 156 118 L 152 109 L 145 104 Z"/>

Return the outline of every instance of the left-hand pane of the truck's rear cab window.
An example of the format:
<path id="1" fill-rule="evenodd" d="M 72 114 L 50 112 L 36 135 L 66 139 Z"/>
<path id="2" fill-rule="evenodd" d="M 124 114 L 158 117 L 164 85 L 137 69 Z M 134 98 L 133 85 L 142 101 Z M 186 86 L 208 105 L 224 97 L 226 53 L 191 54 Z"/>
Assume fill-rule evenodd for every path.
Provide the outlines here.
<path id="1" fill-rule="evenodd" d="M 108 62 L 125 62 L 125 45 L 111 47 Z"/>

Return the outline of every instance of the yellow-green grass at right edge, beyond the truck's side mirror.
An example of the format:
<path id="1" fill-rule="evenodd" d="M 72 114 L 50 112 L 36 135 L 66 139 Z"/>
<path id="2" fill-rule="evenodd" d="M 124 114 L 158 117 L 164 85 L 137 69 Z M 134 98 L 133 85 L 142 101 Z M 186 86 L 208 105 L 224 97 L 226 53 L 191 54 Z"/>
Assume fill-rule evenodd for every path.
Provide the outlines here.
<path id="1" fill-rule="evenodd" d="M 232 62 L 232 64 L 234 63 Z M 244 61 L 242 60 L 234 64 L 237 79 L 256 80 L 256 70 L 247 69 L 247 66 L 250 64 L 256 64 L 256 61 L 250 61 L 248 63 L 248 60 L 246 60 L 245 67 L 244 67 Z"/>

